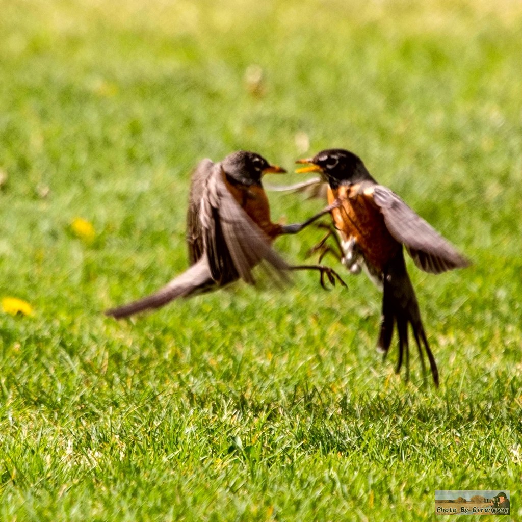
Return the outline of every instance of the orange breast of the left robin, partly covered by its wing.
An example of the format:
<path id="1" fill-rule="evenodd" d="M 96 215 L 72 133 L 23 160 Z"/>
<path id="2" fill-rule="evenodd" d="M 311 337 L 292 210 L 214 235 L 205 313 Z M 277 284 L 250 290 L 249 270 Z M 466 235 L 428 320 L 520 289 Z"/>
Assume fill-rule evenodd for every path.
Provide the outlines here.
<path id="1" fill-rule="evenodd" d="M 273 241 L 281 233 L 281 226 L 270 221 L 270 206 L 264 188 L 259 185 L 232 184 L 227 179 L 225 183 L 248 217 Z"/>

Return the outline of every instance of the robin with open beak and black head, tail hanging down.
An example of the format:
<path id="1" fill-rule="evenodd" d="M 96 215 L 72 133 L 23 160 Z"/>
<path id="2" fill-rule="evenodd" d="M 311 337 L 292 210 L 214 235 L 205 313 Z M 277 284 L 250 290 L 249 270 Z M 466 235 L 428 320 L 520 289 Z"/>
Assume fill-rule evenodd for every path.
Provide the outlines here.
<path id="1" fill-rule="evenodd" d="M 328 184 L 328 203 L 340 240 L 338 244 L 342 263 L 355 273 L 360 271 L 361 266 L 364 267 L 370 278 L 383 290 L 381 331 L 377 347 L 386 356 L 392 342 L 394 325 L 397 325 L 399 358 L 396 371 L 400 372 L 405 352 L 408 377 L 409 323 L 419 349 L 423 372 L 425 366 L 421 341 L 430 361 L 433 380 L 438 386 L 437 365 L 426 339 L 417 298 L 406 271 L 402 246 L 406 247 L 417 267 L 431 274 L 466 267 L 470 264 L 469 260 L 459 254 L 397 194 L 377 184 L 361 159 L 352 152 L 343 149 L 323 150 L 313 158 L 298 160 L 296 163 L 310 164 L 296 172 L 319 172 L 322 180 L 316 181 L 326 181 Z M 323 248 L 324 255 L 327 250 L 324 240 L 319 248 Z"/>

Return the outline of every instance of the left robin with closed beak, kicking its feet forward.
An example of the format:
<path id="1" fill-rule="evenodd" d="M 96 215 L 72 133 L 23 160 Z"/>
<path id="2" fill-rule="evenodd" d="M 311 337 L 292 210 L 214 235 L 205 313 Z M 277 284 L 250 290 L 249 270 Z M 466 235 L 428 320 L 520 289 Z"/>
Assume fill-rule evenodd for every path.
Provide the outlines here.
<path id="1" fill-rule="evenodd" d="M 268 198 L 261 178 L 286 172 L 254 152 L 239 151 L 219 163 L 201 161 L 193 175 L 187 212 L 190 267 L 157 292 L 108 310 L 106 315 L 127 317 L 155 309 L 173 299 L 225 286 L 239 278 L 254 284 L 252 269 L 267 262 L 275 275 L 287 270 L 314 269 L 331 284 L 345 284 L 336 272 L 321 265 L 290 266 L 271 248 L 281 234 L 295 234 L 307 223 L 281 225 L 270 220 Z M 314 217 L 315 220 L 315 217 Z"/>

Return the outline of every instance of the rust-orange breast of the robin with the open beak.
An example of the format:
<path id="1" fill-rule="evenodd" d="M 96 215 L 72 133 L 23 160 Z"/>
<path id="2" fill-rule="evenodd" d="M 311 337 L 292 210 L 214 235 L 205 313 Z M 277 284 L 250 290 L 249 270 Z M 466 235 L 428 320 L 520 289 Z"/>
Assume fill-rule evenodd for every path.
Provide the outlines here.
<path id="1" fill-rule="evenodd" d="M 371 195 L 359 193 L 358 186 L 340 186 L 328 189 L 328 203 L 342 200 L 342 206 L 331 215 L 341 239 L 355 238 L 367 262 L 382 270 L 396 254 L 399 243 L 388 232 L 384 218 L 372 203 Z"/>

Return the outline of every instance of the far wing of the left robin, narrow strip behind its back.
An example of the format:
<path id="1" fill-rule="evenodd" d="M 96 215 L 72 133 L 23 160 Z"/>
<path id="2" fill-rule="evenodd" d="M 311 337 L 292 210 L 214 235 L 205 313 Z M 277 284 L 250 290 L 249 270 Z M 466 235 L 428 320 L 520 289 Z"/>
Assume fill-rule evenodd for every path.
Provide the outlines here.
<path id="1" fill-rule="evenodd" d="M 205 159 L 200 161 L 191 176 L 191 189 L 188 195 L 187 210 L 187 247 L 188 261 L 194 265 L 203 256 L 204 241 L 201 227 L 201 198 L 205 194 L 205 180 L 212 173 L 214 163 Z"/>

